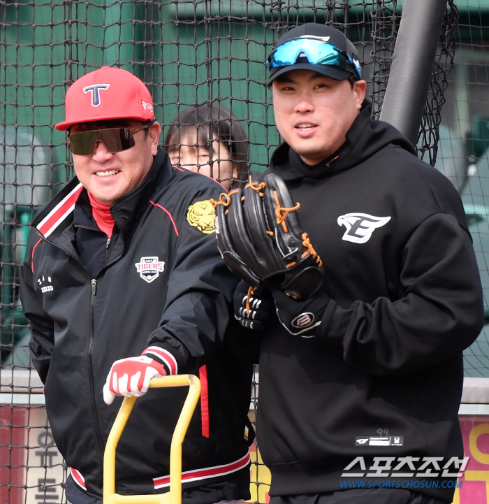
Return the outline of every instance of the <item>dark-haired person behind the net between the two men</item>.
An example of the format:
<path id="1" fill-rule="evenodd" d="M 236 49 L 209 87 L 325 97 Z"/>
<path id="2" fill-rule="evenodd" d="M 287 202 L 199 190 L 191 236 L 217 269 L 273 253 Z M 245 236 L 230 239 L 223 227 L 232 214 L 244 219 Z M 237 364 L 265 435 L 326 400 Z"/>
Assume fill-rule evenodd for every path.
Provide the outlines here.
<path id="1" fill-rule="evenodd" d="M 177 114 L 165 138 L 174 166 L 214 178 L 225 189 L 248 178 L 249 141 L 238 118 L 219 103 Z"/>

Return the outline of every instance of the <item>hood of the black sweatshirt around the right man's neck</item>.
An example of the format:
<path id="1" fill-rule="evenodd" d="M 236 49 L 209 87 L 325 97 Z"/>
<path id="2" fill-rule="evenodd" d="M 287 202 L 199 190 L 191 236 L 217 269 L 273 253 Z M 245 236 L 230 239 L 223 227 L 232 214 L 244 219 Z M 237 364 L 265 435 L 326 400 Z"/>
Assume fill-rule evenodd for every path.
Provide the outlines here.
<path id="1" fill-rule="evenodd" d="M 287 143 L 272 155 L 270 170 L 283 180 L 325 178 L 348 170 L 388 144 L 399 145 L 416 155 L 414 145 L 388 122 L 371 120 L 372 103 L 364 100 L 360 113 L 346 134 L 346 142 L 333 155 L 314 166 L 306 164 Z"/>

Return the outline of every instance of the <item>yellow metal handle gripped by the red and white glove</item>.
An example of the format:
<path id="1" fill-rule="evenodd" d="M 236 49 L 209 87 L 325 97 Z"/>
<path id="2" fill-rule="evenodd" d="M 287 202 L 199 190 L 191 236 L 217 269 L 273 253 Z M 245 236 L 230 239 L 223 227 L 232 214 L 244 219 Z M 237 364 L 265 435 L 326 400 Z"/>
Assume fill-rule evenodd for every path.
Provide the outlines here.
<path id="1" fill-rule="evenodd" d="M 182 503 L 182 442 L 200 397 L 200 380 L 194 375 L 153 378 L 149 387 L 189 387 L 170 447 L 170 491 L 167 494 L 119 495 L 115 493 L 115 447 L 121 437 L 136 397 L 125 397 L 117 413 L 103 454 L 103 504 L 181 504 Z"/>

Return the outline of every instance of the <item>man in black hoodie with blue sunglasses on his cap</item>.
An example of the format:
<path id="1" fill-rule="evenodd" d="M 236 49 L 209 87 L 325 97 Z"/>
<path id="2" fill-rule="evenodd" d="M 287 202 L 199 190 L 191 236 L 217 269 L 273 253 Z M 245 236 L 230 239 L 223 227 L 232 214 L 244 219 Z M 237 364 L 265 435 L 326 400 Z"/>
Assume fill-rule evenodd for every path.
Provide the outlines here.
<path id="1" fill-rule="evenodd" d="M 341 31 L 295 27 L 267 64 L 284 139 L 269 173 L 300 203 L 324 268 L 305 300 L 273 281 L 249 311 L 248 286 L 235 294 L 235 317 L 261 326 L 257 431 L 270 504 L 451 503 L 467 463 L 462 351 L 483 326 L 460 196 L 399 131 L 371 120 Z"/>

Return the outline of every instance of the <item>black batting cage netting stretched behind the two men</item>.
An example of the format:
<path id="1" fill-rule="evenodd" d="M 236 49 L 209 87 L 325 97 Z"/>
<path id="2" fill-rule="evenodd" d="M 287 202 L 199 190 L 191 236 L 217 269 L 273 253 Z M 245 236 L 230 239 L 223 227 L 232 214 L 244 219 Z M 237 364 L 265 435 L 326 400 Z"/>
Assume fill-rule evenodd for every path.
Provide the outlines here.
<path id="1" fill-rule="evenodd" d="M 66 501 L 66 466 L 31 367 L 18 280 L 31 219 L 73 176 L 66 136 L 54 129 L 64 120 L 68 86 L 103 65 L 135 73 L 152 92 L 162 145 L 177 156 L 182 145 L 198 145 L 209 154 L 210 175 L 238 184 L 265 170 L 280 142 L 263 82 L 265 60 L 284 29 L 320 22 L 344 31 L 360 55 L 378 118 L 402 6 L 401 0 L 0 1 L 0 504 Z M 462 195 L 489 321 L 487 43 L 489 1 L 448 0 L 417 147 Z M 239 170 L 220 173 L 219 158 Z M 487 327 L 465 352 L 467 376 L 489 377 Z M 257 384 L 258 372 L 251 417 Z M 252 459 L 251 501 L 265 503 L 270 475 L 259 452 Z"/>

